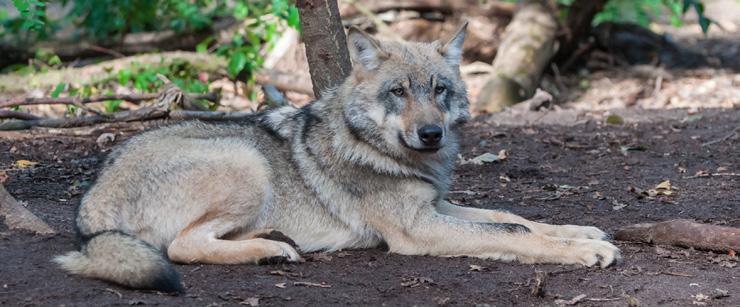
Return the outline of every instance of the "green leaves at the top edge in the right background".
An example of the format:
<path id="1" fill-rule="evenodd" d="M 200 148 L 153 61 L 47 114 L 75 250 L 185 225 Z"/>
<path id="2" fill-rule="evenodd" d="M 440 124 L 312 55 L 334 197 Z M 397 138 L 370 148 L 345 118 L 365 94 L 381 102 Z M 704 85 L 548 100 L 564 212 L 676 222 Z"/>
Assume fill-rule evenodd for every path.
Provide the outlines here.
<path id="1" fill-rule="evenodd" d="M 673 26 L 680 27 L 683 15 L 692 8 L 699 17 L 699 26 L 706 33 L 711 20 L 704 15 L 704 4 L 700 0 L 610 0 L 594 17 L 593 23 L 621 21 L 648 27 L 654 19 L 667 15 Z"/>

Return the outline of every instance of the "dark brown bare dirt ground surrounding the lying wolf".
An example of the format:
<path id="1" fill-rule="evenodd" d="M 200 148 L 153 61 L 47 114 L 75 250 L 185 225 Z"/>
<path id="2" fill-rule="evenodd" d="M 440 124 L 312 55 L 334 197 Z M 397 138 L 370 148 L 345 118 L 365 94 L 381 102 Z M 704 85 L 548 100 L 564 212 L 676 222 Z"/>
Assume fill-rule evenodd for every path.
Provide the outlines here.
<path id="1" fill-rule="evenodd" d="M 660 118 L 661 111 L 654 112 Z M 571 127 L 478 119 L 463 131 L 463 158 L 502 149 L 508 158 L 459 165 L 449 198 L 610 232 L 673 218 L 740 226 L 740 109 L 678 112 L 657 123 L 625 118 L 624 125 L 585 120 Z M 626 242 L 616 242 L 623 263 L 608 269 L 410 257 L 380 249 L 308 254 L 297 265 L 178 265 L 187 289 L 181 296 L 69 276 L 50 259 L 75 248 L 74 208 L 109 150 L 95 142 L 106 131 L 120 129 L 0 138 L 7 190 L 60 232 L 44 238 L 0 226 L 0 305 L 548 306 L 582 294 L 579 306 L 740 305 L 737 256 Z M 18 160 L 38 164 L 19 168 Z M 692 177 L 699 171 L 724 175 Z M 663 180 L 677 194 L 648 199 L 629 190 Z M 538 271 L 546 276 L 542 297 L 531 294 Z"/>

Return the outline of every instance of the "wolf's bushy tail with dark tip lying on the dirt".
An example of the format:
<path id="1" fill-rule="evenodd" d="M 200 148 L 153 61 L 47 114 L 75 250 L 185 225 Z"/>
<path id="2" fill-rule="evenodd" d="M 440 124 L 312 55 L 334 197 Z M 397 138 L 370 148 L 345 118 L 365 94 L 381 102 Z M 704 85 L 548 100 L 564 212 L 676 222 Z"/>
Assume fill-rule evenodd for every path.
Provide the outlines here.
<path id="1" fill-rule="evenodd" d="M 119 231 L 103 231 L 79 252 L 54 258 L 64 270 L 136 289 L 183 292 L 180 277 L 162 252 Z"/>

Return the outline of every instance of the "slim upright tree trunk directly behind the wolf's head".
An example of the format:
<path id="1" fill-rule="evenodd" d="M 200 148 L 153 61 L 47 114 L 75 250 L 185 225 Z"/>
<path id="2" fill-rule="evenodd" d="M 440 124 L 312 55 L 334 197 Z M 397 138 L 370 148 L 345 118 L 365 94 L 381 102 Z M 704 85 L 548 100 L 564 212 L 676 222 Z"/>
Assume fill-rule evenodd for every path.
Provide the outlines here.
<path id="1" fill-rule="evenodd" d="M 316 98 L 340 85 L 352 71 L 336 0 L 298 0 L 303 40 Z"/>

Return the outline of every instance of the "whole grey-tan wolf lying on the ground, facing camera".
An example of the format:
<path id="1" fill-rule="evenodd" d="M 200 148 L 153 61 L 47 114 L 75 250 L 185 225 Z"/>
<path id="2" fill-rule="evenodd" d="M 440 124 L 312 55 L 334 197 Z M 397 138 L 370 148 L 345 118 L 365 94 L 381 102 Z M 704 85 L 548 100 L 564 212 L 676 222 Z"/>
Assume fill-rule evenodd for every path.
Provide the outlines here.
<path id="1" fill-rule="evenodd" d="M 80 202 L 80 250 L 54 261 L 164 292 L 183 291 L 172 262 L 298 262 L 299 250 L 381 244 L 403 255 L 612 265 L 619 249 L 598 228 L 445 200 L 470 117 L 465 29 L 422 43 L 350 28 L 351 74 L 311 104 L 132 137 Z"/>

